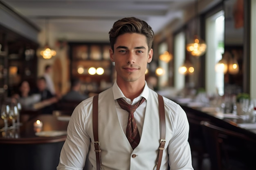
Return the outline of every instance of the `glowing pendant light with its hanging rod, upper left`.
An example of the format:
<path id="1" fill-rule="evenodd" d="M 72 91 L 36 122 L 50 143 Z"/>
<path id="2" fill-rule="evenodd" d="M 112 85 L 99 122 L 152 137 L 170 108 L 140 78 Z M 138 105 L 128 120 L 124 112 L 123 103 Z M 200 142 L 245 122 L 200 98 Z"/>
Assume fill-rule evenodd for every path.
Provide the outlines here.
<path id="1" fill-rule="evenodd" d="M 49 47 L 49 19 L 45 19 L 45 46 L 39 49 L 38 56 L 50 59 L 56 55 L 56 51 Z"/>

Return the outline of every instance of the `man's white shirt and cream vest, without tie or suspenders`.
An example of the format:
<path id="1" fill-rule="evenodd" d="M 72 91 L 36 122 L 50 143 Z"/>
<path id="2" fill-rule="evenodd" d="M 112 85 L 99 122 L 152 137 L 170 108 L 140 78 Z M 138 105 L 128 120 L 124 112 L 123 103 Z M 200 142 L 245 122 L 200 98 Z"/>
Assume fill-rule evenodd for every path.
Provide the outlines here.
<path id="1" fill-rule="evenodd" d="M 116 82 L 112 88 L 99 94 L 99 141 L 103 169 L 153 170 L 160 133 L 157 94 L 145 85 L 143 92 L 132 102 L 124 97 L 130 104 L 135 104 L 141 97 L 146 99 L 134 113 L 141 136 L 140 143 L 134 150 L 125 136 L 128 114 L 116 101 L 120 97 L 124 97 L 124 94 Z M 193 170 L 191 150 L 187 141 L 189 124 L 186 113 L 178 104 L 166 97 L 164 97 L 164 107 L 166 145 L 160 170 L 166 170 L 168 163 L 171 170 Z M 83 170 L 86 156 L 93 165 L 86 170 L 96 170 L 93 141 L 92 97 L 90 97 L 81 102 L 72 113 L 57 170 Z"/>

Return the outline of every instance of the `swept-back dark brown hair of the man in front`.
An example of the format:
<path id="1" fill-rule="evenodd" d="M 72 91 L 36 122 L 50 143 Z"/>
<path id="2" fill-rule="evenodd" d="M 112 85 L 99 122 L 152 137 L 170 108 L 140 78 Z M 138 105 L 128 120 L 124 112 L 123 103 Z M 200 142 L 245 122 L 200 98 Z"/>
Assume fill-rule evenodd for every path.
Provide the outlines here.
<path id="1" fill-rule="evenodd" d="M 139 33 L 146 36 L 148 51 L 152 48 L 154 32 L 145 21 L 135 17 L 117 20 L 109 31 L 109 40 L 112 50 L 117 42 L 117 37 L 125 33 Z"/>

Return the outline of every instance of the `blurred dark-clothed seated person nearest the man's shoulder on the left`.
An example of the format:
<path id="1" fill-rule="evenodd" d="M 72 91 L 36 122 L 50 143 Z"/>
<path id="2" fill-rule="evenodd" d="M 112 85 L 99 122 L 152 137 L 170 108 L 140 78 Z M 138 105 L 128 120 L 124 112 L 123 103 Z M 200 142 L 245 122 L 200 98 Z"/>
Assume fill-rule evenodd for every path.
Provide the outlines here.
<path id="1" fill-rule="evenodd" d="M 84 99 L 87 99 L 87 95 L 81 94 L 80 91 L 81 82 L 78 78 L 71 79 L 71 88 L 70 91 L 62 97 L 63 101 L 74 101 L 82 102 Z"/>

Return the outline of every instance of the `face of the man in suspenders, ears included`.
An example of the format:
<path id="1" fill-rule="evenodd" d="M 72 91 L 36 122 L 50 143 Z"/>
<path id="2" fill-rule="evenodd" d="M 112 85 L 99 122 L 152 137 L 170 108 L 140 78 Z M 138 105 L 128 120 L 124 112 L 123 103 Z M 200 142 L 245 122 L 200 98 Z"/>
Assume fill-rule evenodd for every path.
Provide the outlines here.
<path id="1" fill-rule="evenodd" d="M 146 36 L 138 33 L 119 35 L 110 49 L 110 60 L 115 62 L 117 79 L 126 82 L 145 81 L 147 64 L 151 62 L 153 50 L 148 52 Z"/>

